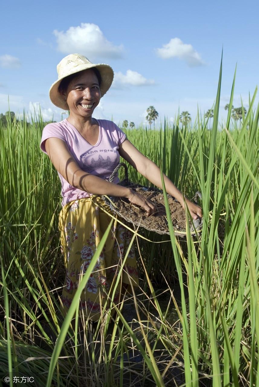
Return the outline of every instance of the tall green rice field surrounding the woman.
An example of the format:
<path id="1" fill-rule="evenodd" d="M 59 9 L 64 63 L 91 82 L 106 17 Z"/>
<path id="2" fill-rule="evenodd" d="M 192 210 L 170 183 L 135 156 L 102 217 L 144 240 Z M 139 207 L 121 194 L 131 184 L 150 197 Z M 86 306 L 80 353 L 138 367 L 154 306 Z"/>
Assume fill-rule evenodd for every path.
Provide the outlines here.
<path id="1" fill-rule="evenodd" d="M 202 234 L 183 241 L 172 228 L 170 236 L 133 229 L 140 288 L 125 295 L 110 324 L 109 317 L 94 328 L 85 322 L 83 334 L 70 322 L 107 236 L 64 319 L 60 182 L 39 149 L 43 120 L 0 128 L 4 385 L 14 377 L 40 387 L 259 385 L 257 89 L 239 123 L 231 111 L 220 123 L 220 84 L 221 70 L 211 127 L 198 113 L 192 127 L 178 117 L 160 130 L 126 130 L 186 196 L 201 191 Z M 129 177 L 148 185 L 131 167 Z"/>

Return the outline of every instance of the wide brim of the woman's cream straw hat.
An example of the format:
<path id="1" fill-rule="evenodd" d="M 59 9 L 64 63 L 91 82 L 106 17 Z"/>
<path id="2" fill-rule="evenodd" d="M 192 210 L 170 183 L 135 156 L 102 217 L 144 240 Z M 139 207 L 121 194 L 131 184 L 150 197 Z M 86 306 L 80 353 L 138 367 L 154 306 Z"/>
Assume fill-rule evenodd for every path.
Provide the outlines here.
<path id="1" fill-rule="evenodd" d="M 64 77 L 56 80 L 54 82 L 50 89 L 49 89 L 49 98 L 51 102 L 55 105 L 58 106 L 58 108 L 61 108 L 63 110 L 69 110 L 68 104 L 65 102 L 65 99 L 63 96 L 61 96 L 60 92 L 58 91 L 58 88 L 60 86 L 60 82 L 62 79 L 68 77 L 69 75 L 76 74 L 77 72 L 83 71 L 83 70 L 88 70 L 89 68 L 96 67 L 98 68 L 100 74 L 101 74 L 101 97 L 104 96 L 104 94 L 109 90 L 111 87 L 113 77 L 114 77 L 114 72 L 111 68 L 111 66 L 103 64 L 103 63 L 98 63 L 94 64 L 92 63 L 91 65 L 86 64 L 86 63 L 80 63 L 76 68 L 73 69 L 72 72 L 69 74 L 66 74 Z"/>

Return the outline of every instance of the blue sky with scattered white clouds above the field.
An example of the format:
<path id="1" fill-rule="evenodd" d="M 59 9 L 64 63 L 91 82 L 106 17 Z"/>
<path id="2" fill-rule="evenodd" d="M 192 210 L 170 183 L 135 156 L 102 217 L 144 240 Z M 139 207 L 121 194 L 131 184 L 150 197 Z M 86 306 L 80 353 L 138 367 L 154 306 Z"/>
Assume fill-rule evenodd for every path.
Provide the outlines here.
<path id="1" fill-rule="evenodd" d="M 24 1 L 1 5 L 0 112 L 30 113 L 39 104 L 45 120 L 61 120 L 48 97 L 56 65 L 70 53 L 114 69 L 114 86 L 96 118 L 145 122 L 154 105 L 173 120 L 178 108 L 192 120 L 211 108 L 223 46 L 220 117 L 230 98 L 244 106 L 259 81 L 259 2 L 249 1 Z M 6 16 L 6 17 L 5 17 Z M 256 99 L 258 102 L 258 98 Z"/>

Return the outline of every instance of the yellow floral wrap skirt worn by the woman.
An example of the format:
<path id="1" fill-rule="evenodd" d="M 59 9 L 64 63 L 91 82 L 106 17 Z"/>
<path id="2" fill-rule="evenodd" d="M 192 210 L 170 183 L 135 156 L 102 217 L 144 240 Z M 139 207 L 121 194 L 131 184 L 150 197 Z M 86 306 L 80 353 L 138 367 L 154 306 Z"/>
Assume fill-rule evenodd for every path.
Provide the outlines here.
<path id="1" fill-rule="evenodd" d="M 86 272 L 111 221 L 111 217 L 102 208 L 111 214 L 111 210 L 101 197 L 91 196 L 66 204 L 60 212 L 58 227 L 61 252 L 66 267 L 65 284 L 61 296 L 64 313 L 70 307 L 80 276 Z M 131 238 L 131 231 L 114 220 L 104 248 L 80 297 L 79 309 L 88 319 L 99 320 L 104 305 L 106 304 L 106 308 L 109 308 L 107 294 L 110 292 L 111 295 L 111 290 L 114 290 L 113 285 Z M 123 266 L 114 303 L 119 301 L 122 283 L 132 283 L 133 286 L 138 286 L 138 271 L 133 246 Z"/>

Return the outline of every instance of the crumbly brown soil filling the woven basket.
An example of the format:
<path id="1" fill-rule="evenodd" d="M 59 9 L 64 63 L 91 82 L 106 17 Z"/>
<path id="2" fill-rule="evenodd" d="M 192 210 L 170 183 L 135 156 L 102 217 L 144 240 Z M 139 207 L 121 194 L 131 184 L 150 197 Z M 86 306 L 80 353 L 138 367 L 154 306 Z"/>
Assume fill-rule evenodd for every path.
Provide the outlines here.
<path id="1" fill-rule="evenodd" d="M 137 205 L 131 204 L 127 199 L 113 198 L 117 199 L 114 202 L 114 204 L 118 207 L 117 211 L 119 211 L 125 219 L 130 219 L 131 222 L 136 225 L 140 223 L 140 226 L 149 230 L 168 231 L 163 193 L 156 191 L 143 191 L 141 189 L 136 189 L 136 192 L 152 200 L 152 202 L 155 202 L 157 205 L 157 212 L 155 212 L 152 216 L 146 216 L 145 210 L 141 209 Z M 170 196 L 168 198 L 168 202 L 174 229 L 177 231 L 186 231 L 185 211 L 181 204 Z"/>

